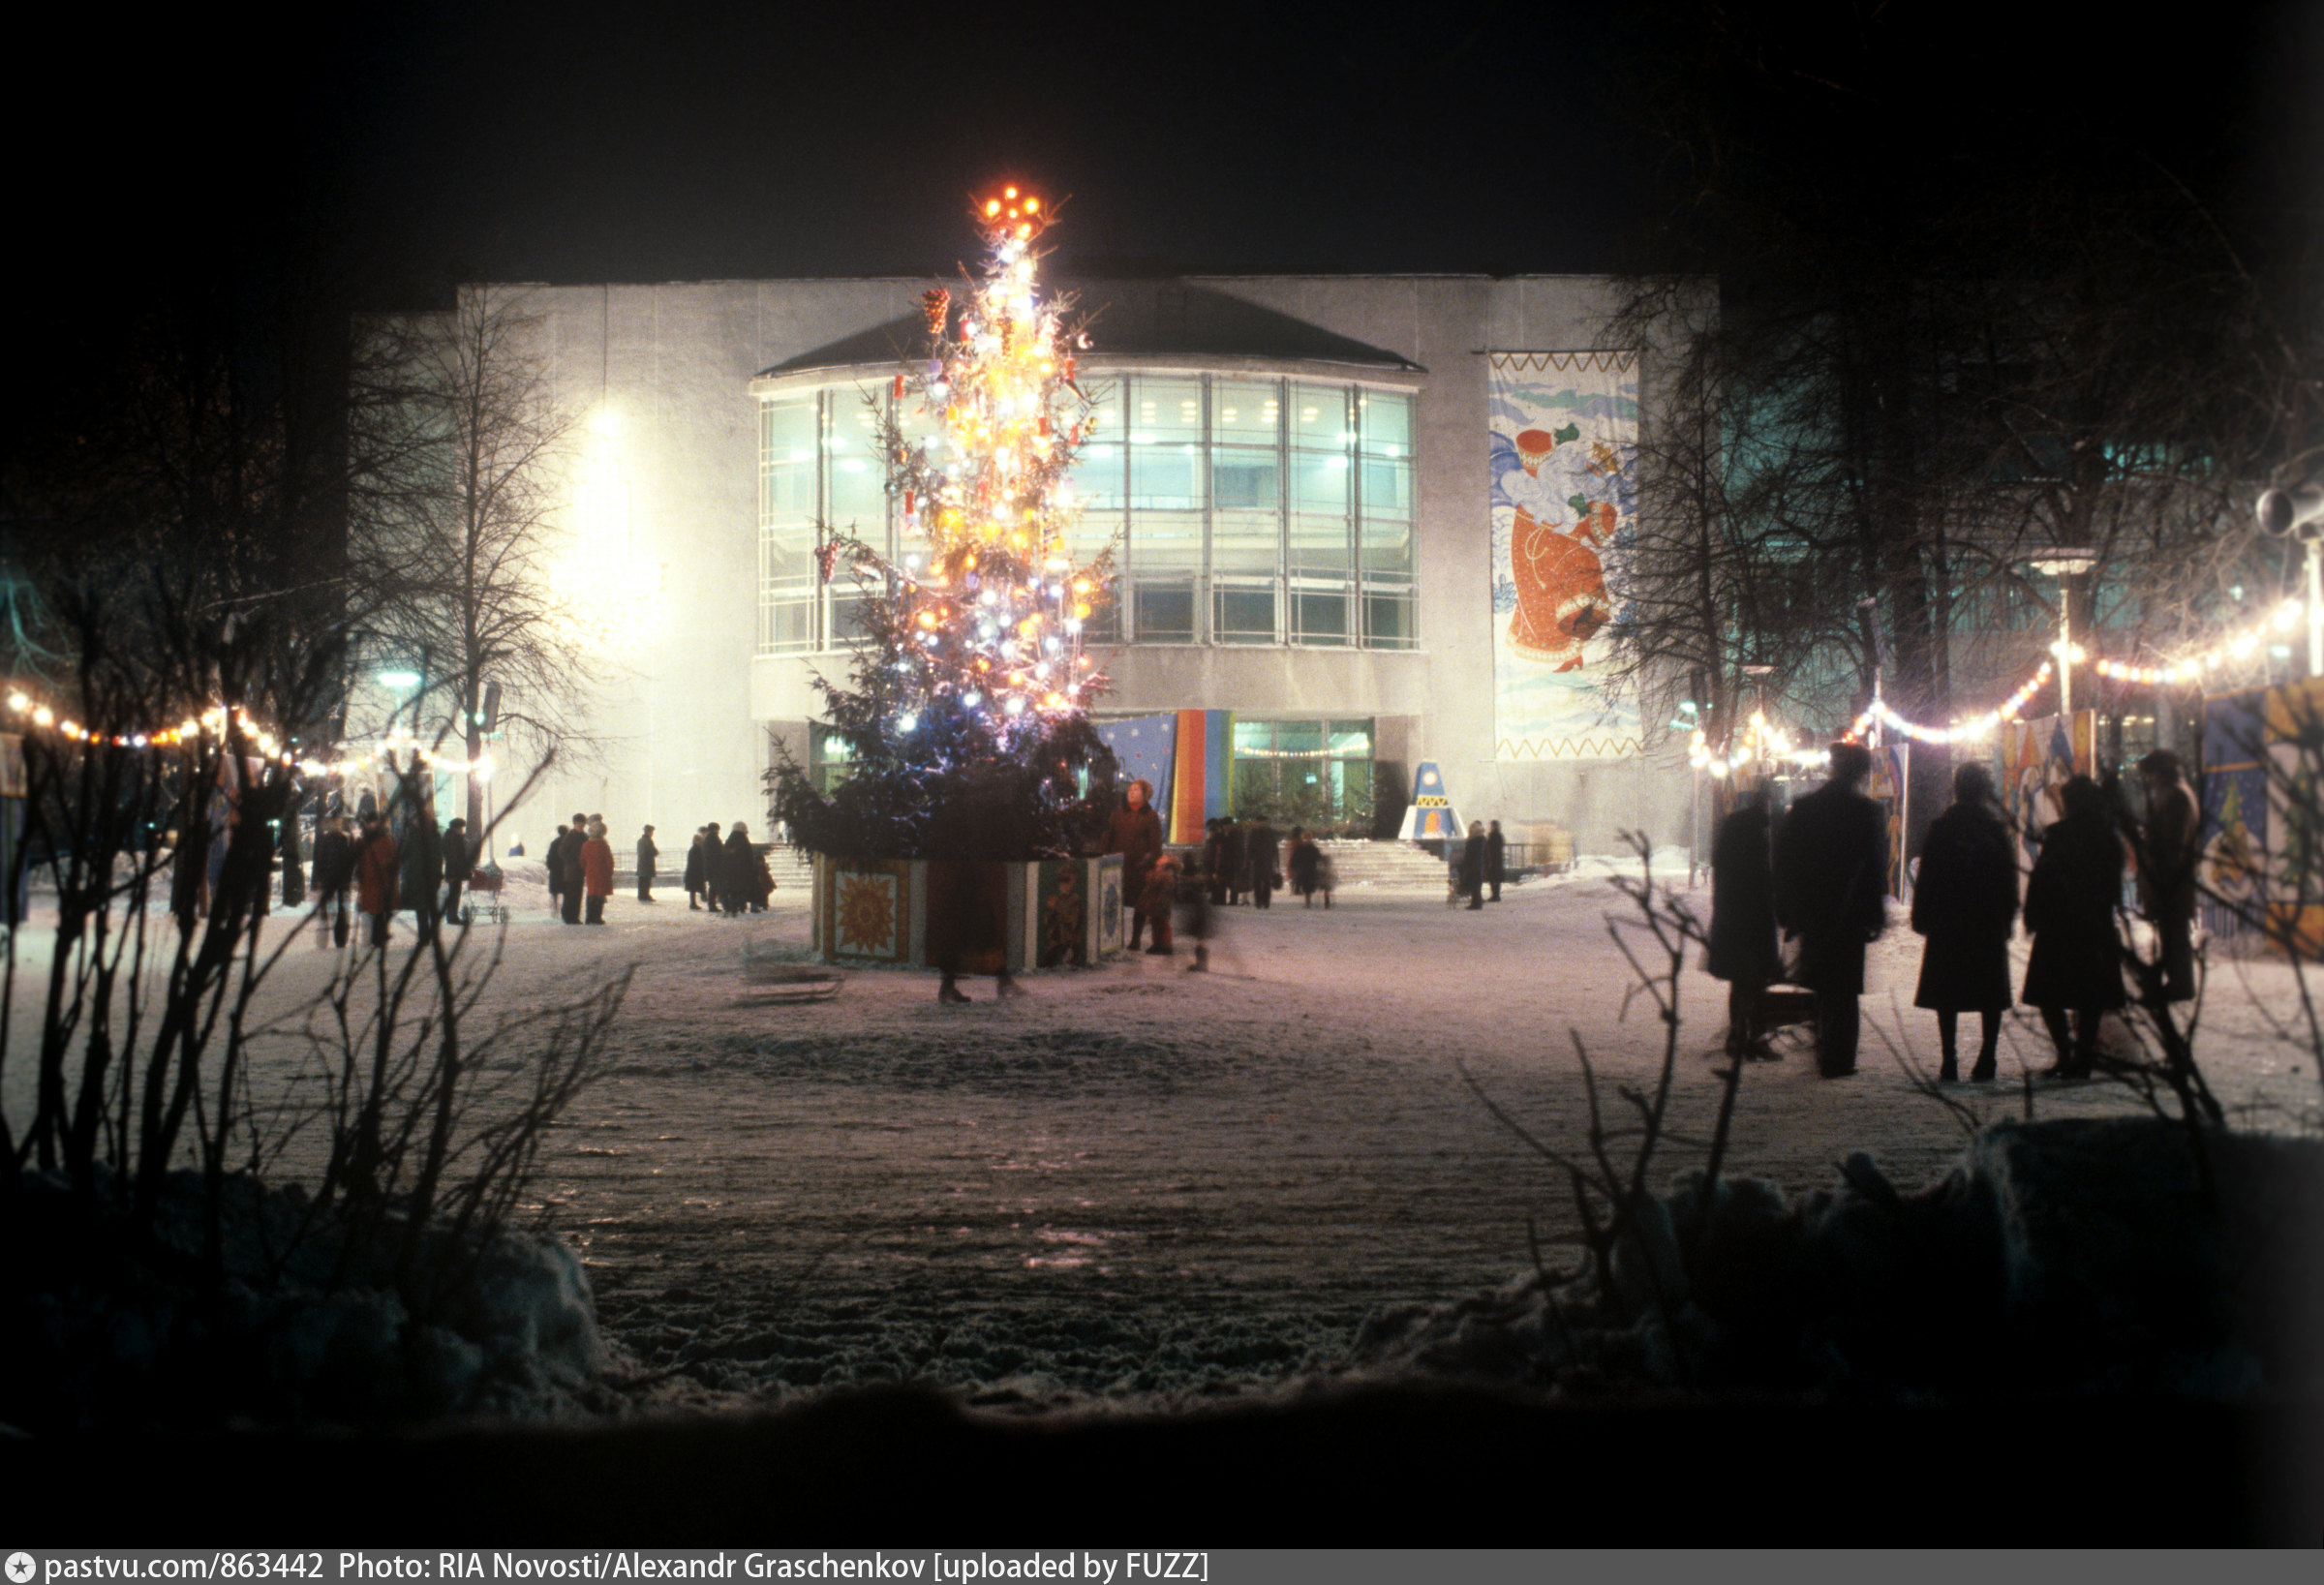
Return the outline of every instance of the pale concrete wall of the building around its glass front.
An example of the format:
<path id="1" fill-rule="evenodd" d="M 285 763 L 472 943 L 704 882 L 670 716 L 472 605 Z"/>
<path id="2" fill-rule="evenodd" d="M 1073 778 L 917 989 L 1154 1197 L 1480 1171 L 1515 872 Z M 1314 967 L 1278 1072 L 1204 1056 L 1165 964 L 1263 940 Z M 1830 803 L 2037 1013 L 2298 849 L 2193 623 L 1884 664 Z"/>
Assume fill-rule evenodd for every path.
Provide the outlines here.
<path id="1" fill-rule="evenodd" d="M 541 321 L 558 400 L 590 416 L 611 414 L 611 435 L 593 444 L 611 449 L 627 493 L 627 544 L 576 546 L 574 555 L 611 567 L 609 576 L 651 576 L 660 593 L 644 621 L 609 623 L 597 760 L 560 769 L 532 804 L 539 818 L 514 818 L 514 832 L 528 841 L 548 834 L 574 809 L 602 811 L 618 837 L 651 820 L 665 848 L 709 818 L 762 827 L 767 727 L 797 732 L 813 713 L 811 669 L 844 674 L 846 658 L 753 655 L 758 474 L 748 383 L 779 363 L 909 316 L 927 286 L 523 288 L 525 309 Z M 1085 309 L 1104 304 L 1104 281 L 1074 286 Z M 1485 353 L 1606 346 L 1611 286 L 1597 277 L 1236 277 L 1202 286 L 1418 365 L 1418 374 L 1383 372 L 1380 381 L 1420 397 L 1420 648 L 1116 648 L 1102 653 L 1118 688 L 1106 707 L 1376 716 L 1380 758 L 1399 760 L 1406 774 L 1418 760 L 1436 760 L 1464 818 L 1559 820 L 1583 851 L 1613 851 L 1624 827 L 1685 844 L 1683 744 L 1664 741 L 1622 762 L 1492 758 Z M 1648 423 L 1652 374 L 1648 358 Z M 1373 374 L 1336 367 L 1308 376 Z M 802 737 L 792 746 L 804 753 Z"/>

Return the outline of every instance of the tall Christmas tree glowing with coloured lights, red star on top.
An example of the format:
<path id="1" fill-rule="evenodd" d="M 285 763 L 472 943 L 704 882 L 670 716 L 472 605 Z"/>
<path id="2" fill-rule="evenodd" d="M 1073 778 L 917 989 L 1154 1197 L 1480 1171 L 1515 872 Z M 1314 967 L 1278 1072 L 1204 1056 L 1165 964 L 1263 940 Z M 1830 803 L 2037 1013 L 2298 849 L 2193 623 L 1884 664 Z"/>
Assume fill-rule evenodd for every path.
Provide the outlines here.
<path id="1" fill-rule="evenodd" d="M 851 769 L 830 795 L 788 753 L 767 774 L 774 818 L 816 853 L 1067 855 L 1111 806 L 1088 718 L 1106 679 L 1081 641 L 1111 551 L 1071 553 L 1088 337 L 1039 295 L 1041 200 L 1009 186 L 976 218 L 983 265 L 957 300 L 923 297 L 927 358 L 895 374 L 881 418 L 906 548 L 823 535 L 823 579 L 846 569 L 865 595 L 851 679 L 816 679 Z"/>

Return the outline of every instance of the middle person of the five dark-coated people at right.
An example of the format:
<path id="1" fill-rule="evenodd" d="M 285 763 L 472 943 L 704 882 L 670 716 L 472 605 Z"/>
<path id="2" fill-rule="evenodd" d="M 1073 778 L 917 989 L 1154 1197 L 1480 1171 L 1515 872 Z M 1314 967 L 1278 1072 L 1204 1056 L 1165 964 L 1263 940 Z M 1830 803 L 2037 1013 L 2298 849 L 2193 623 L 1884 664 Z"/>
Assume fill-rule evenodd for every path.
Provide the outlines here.
<path id="1" fill-rule="evenodd" d="M 2017 920 L 2017 846 L 1994 802 L 1994 774 L 1978 762 L 1952 772 L 1952 809 L 1936 816 L 1920 851 L 1913 930 L 1929 939 L 1920 955 L 1913 1006 L 1936 1011 L 1943 1062 L 1938 1083 L 1961 1076 L 1959 1020 L 1975 1011 L 1982 1030 L 1971 1083 L 1994 1078 L 2001 1013 L 2010 1004 L 2010 925 Z"/>

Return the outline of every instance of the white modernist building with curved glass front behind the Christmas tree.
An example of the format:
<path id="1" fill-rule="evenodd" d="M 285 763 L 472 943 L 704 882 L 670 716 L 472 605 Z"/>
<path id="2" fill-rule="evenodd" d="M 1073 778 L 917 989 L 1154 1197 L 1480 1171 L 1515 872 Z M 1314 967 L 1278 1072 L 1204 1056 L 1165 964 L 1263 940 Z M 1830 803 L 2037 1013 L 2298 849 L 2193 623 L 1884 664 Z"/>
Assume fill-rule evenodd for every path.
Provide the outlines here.
<path id="1" fill-rule="evenodd" d="M 895 546 L 874 423 L 932 284 L 472 288 L 530 316 L 586 416 L 565 579 L 607 595 L 600 751 L 509 834 L 574 809 L 665 848 L 713 818 L 762 834 L 772 737 L 825 760 L 811 679 L 848 669 L 853 586 L 818 579 L 818 525 Z M 1685 844 L 1685 744 L 1606 688 L 1655 414 L 1652 353 L 1606 346 L 1611 281 L 1050 291 L 1088 316 L 1076 488 L 1120 574 L 1090 627 L 1102 713 L 1232 711 L 1232 799 L 1278 820 L 1392 834 L 1432 762 L 1464 818 Z"/>

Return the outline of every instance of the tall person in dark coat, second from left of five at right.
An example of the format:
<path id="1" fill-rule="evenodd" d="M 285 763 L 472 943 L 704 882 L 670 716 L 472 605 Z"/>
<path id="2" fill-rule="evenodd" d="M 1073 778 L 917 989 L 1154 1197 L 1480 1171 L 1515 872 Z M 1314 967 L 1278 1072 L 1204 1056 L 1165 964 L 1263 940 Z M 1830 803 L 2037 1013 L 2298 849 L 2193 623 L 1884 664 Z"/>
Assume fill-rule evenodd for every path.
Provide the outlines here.
<path id="1" fill-rule="evenodd" d="M 1857 1071 L 1864 948 L 1887 927 L 1887 816 L 1864 797 L 1873 755 L 1831 746 L 1831 781 L 1776 830 L 1776 923 L 1799 937 L 1799 983 L 1815 992 L 1815 1064 Z"/>

